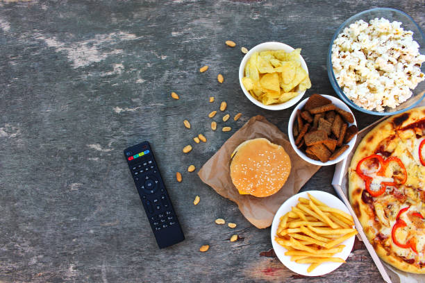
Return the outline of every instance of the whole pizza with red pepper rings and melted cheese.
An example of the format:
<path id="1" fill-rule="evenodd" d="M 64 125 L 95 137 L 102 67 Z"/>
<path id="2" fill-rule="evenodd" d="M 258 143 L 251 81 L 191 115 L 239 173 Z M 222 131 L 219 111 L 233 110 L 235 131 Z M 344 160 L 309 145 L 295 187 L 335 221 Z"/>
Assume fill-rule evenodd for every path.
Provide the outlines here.
<path id="1" fill-rule="evenodd" d="M 425 107 L 368 132 L 348 173 L 351 206 L 378 256 L 425 273 Z"/>

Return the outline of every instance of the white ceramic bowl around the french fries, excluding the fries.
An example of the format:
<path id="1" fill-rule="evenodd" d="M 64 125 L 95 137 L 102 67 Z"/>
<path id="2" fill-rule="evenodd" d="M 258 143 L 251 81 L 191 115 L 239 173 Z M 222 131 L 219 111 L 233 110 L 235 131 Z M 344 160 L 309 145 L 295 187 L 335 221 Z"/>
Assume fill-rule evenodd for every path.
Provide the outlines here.
<path id="1" fill-rule="evenodd" d="M 306 276 L 319 276 L 334 271 L 342 264 L 342 262 L 324 262 L 323 264 L 317 266 L 317 268 L 315 268 L 312 272 L 308 273 L 307 268 L 308 266 L 310 266 L 310 264 L 297 264 L 297 262 L 291 261 L 291 257 L 289 255 L 285 255 L 285 252 L 287 252 L 288 250 L 286 248 L 283 248 L 283 246 L 279 245 L 274 240 L 277 229 L 279 227 L 279 223 L 281 222 L 281 216 L 285 215 L 286 212 L 290 212 L 292 207 L 297 205 L 298 198 L 308 198 L 307 193 L 310 193 L 312 196 L 322 201 L 329 207 L 341 209 L 343 212 L 347 212 L 349 214 L 349 210 L 347 209 L 347 207 L 336 196 L 328 194 L 325 191 L 303 191 L 302 193 L 296 194 L 291 198 L 288 198 L 288 200 L 286 200 L 285 203 L 283 203 L 283 205 L 281 205 L 281 207 L 279 207 L 278 211 L 276 212 L 276 215 L 273 218 L 271 230 L 272 246 L 278 259 L 291 271 Z M 351 250 L 353 249 L 354 237 L 356 236 L 353 236 L 343 241 L 342 245 L 345 245 L 344 249 L 342 250 L 342 252 L 338 252 L 337 254 L 333 255 L 333 257 L 340 257 L 344 260 L 347 259 L 347 257 L 350 255 Z"/>

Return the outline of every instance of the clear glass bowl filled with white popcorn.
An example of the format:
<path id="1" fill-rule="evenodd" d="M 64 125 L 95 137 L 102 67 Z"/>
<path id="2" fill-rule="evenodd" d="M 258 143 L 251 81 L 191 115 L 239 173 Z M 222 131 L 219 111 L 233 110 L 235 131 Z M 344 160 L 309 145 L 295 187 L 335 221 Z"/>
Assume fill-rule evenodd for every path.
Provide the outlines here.
<path id="1" fill-rule="evenodd" d="M 328 50 L 335 92 L 352 108 L 392 115 L 425 96 L 425 35 L 406 13 L 374 8 L 347 19 Z"/>

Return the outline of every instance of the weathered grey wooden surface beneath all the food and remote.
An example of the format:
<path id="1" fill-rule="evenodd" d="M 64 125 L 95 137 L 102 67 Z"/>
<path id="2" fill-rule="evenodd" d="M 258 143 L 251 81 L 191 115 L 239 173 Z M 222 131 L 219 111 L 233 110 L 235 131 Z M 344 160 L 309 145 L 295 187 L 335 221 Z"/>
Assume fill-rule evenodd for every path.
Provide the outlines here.
<path id="1" fill-rule="evenodd" d="M 349 16 L 376 6 L 404 10 L 425 26 L 422 0 L 0 1 L 0 281 L 380 282 L 361 243 L 331 274 L 290 272 L 267 252 L 269 229 L 253 228 L 186 171 L 199 169 L 253 115 L 287 132 L 292 108 L 262 110 L 240 90 L 241 46 L 301 47 L 313 82 L 308 94 L 334 94 L 326 74 L 331 37 Z M 210 66 L 204 74 L 202 65 Z M 224 100 L 228 113 L 244 115 L 227 122 L 232 132 L 212 132 L 206 115 Z M 356 117 L 360 127 L 377 119 Z M 183 155 L 199 132 L 208 142 Z M 164 250 L 122 157 L 145 139 L 186 237 Z M 304 189 L 334 193 L 333 170 L 320 169 Z M 218 227 L 217 217 L 238 228 Z M 230 243 L 233 233 L 243 239 Z M 204 243 L 210 250 L 198 252 Z"/>

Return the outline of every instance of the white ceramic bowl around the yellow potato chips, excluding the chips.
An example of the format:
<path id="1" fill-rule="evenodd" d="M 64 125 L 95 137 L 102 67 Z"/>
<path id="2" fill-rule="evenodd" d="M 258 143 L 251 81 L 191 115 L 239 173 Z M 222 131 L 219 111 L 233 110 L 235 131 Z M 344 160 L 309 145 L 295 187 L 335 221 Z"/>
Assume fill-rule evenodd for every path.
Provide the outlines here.
<path id="1" fill-rule="evenodd" d="M 256 98 L 253 98 L 251 94 L 245 89 L 244 84 L 242 83 L 242 78 L 244 77 L 244 69 L 245 65 L 247 65 L 247 62 L 249 58 L 251 57 L 252 53 L 254 52 L 261 52 L 261 51 L 267 51 L 267 50 L 284 50 L 286 52 L 291 52 L 294 49 L 286 44 L 283 44 L 281 42 L 265 42 L 262 44 L 258 44 L 257 46 L 253 47 L 247 54 L 245 54 L 244 58 L 242 59 L 242 62 L 240 62 L 239 66 L 239 83 L 240 87 L 242 88 L 242 91 L 244 92 L 245 96 L 254 103 L 255 105 L 259 106 L 260 108 L 268 109 L 268 110 L 283 110 L 286 108 L 290 108 L 292 105 L 297 103 L 303 95 L 306 93 L 304 90 L 303 92 L 299 92 L 299 95 L 295 96 L 294 98 L 290 99 L 289 101 L 286 101 L 284 103 L 279 104 L 273 104 L 273 105 L 265 105 L 261 103 L 260 101 L 256 100 Z M 306 62 L 304 61 L 303 57 L 300 55 L 301 58 L 301 67 L 306 70 L 308 74 L 308 69 Z"/>

